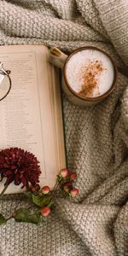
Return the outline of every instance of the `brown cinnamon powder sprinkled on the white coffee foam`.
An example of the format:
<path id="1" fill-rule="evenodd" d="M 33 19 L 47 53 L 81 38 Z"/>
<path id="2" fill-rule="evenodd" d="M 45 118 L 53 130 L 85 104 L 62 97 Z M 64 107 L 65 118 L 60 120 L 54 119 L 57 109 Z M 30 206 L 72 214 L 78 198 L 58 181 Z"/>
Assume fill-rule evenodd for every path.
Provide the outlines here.
<path id="1" fill-rule="evenodd" d="M 89 61 L 87 65 L 83 67 L 81 82 L 82 88 L 79 91 L 81 96 L 93 96 L 94 90 L 99 93 L 99 77 L 104 71 L 102 67 L 102 61 Z"/>

